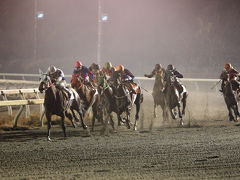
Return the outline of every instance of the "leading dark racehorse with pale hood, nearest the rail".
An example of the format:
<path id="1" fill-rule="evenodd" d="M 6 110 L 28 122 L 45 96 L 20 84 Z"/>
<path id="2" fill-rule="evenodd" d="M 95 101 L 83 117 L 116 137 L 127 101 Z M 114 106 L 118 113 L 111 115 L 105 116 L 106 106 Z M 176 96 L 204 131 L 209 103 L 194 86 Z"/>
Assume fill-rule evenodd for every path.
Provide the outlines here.
<path id="1" fill-rule="evenodd" d="M 64 137 L 66 137 L 66 127 L 64 125 L 65 116 L 67 116 L 71 122 L 73 127 L 75 127 L 75 123 L 73 121 L 71 113 L 68 112 L 68 109 L 72 111 L 73 116 L 76 118 L 74 110 L 76 110 L 80 116 L 81 123 L 83 129 L 86 129 L 87 126 L 83 122 L 83 114 L 81 110 L 80 104 L 80 97 L 78 96 L 77 92 L 74 89 L 70 89 L 72 92 L 73 98 L 69 99 L 67 94 L 57 88 L 54 85 L 54 82 L 50 80 L 50 77 L 47 74 L 41 74 L 40 76 L 40 85 L 39 91 L 43 92 L 45 90 L 45 97 L 44 97 L 44 108 L 45 108 L 45 116 L 47 118 L 48 124 L 48 133 L 47 139 L 51 141 L 50 137 L 50 129 L 51 129 L 51 116 L 57 115 L 61 117 L 61 125 Z"/>

